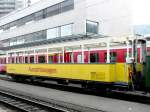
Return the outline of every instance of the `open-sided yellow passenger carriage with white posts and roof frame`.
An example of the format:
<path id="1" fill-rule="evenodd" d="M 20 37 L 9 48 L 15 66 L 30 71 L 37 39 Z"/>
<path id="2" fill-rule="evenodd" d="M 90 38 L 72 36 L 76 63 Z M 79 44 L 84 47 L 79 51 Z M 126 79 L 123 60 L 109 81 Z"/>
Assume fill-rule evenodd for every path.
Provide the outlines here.
<path id="1" fill-rule="evenodd" d="M 55 44 L 56 47 L 52 48 L 39 46 L 37 49 L 24 49 L 15 53 L 11 51 L 6 58 L 7 73 L 15 80 L 34 77 L 58 82 L 62 80 L 68 84 L 75 81 L 81 85 L 86 82 L 129 87 L 132 67 L 126 61 L 130 58 L 131 46 L 120 42 L 116 44 L 109 38 L 108 42 L 106 38 L 96 38 L 80 40 L 80 43 L 74 41 L 71 46 L 66 42 Z"/>

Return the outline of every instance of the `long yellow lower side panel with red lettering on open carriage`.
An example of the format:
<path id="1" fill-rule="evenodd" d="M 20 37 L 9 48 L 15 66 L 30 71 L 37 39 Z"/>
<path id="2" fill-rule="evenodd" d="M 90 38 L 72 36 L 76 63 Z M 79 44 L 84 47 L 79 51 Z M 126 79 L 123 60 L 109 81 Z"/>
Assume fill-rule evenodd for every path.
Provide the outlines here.
<path id="1" fill-rule="evenodd" d="M 115 64 L 7 64 L 12 74 L 115 82 Z"/>

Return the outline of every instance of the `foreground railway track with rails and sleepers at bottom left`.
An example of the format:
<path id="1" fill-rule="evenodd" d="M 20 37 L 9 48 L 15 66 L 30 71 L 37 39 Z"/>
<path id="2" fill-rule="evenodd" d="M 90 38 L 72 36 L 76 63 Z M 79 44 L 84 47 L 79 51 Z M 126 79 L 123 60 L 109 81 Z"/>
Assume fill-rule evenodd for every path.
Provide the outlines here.
<path id="1" fill-rule="evenodd" d="M 19 110 L 19 112 L 106 112 L 76 104 L 46 100 L 28 93 L 0 87 L 0 102 Z"/>

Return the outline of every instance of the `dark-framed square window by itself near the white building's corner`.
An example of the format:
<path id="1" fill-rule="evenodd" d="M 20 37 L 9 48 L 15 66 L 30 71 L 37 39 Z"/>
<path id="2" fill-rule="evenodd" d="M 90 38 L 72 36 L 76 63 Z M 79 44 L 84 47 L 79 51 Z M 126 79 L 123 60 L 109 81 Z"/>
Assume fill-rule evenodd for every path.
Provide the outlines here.
<path id="1" fill-rule="evenodd" d="M 86 21 L 86 32 L 98 34 L 98 22 Z"/>

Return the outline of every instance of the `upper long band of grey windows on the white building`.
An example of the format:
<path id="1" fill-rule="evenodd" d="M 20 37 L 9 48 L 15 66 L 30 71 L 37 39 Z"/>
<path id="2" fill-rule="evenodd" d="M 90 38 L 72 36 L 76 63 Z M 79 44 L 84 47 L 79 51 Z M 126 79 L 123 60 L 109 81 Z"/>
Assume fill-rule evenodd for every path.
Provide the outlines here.
<path id="1" fill-rule="evenodd" d="M 38 21 L 47 17 L 51 17 L 63 12 L 70 11 L 72 9 L 74 9 L 74 0 L 65 0 L 61 3 L 55 4 L 53 6 L 47 7 L 33 14 L 30 14 L 26 17 L 20 18 L 16 21 L 0 26 L 0 29 L 8 30 L 10 27 L 13 26 L 22 26 L 29 21 Z"/>

